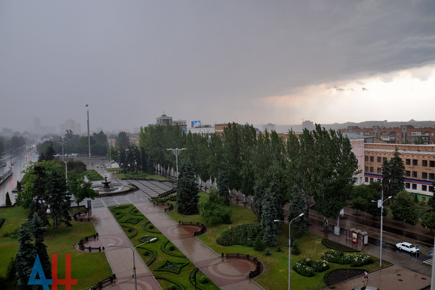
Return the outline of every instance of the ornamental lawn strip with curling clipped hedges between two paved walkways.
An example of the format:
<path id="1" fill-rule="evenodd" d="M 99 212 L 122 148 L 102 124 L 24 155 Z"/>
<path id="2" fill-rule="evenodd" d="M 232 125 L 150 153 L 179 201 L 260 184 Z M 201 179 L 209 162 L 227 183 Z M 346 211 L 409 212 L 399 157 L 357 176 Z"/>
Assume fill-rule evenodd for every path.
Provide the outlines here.
<path id="1" fill-rule="evenodd" d="M 139 241 L 140 238 L 143 237 L 157 237 L 157 241 L 152 243 L 146 243 L 142 246 L 137 247 L 137 252 L 141 255 L 142 260 L 144 263 L 148 264 L 148 268 L 151 270 L 151 273 L 154 275 L 154 277 L 157 279 L 157 282 L 160 284 L 162 289 L 168 289 L 172 282 L 168 282 L 167 280 L 174 281 L 174 283 L 181 283 L 184 285 L 186 289 L 195 289 L 195 286 L 192 285 L 189 282 L 189 275 L 193 270 L 196 269 L 196 266 L 194 263 L 191 262 L 188 258 L 186 258 L 183 253 L 181 253 L 180 250 L 175 248 L 173 251 L 169 251 L 168 247 L 173 244 L 169 242 L 167 237 L 165 237 L 162 233 L 158 231 L 156 227 L 153 229 L 149 229 L 149 226 L 151 223 L 149 223 L 149 220 L 142 215 L 139 211 L 137 213 L 134 213 L 134 206 L 129 204 L 126 206 L 116 206 L 116 207 L 109 207 L 109 210 L 112 214 L 114 214 L 114 217 L 117 218 L 118 223 L 124 230 L 124 233 L 127 237 L 130 238 L 131 243 L 134 246 L 137 246 L 143 241 Z M 119 211 L 120 213 L 124 213 L 124 215 L 116 215 L 115 213 Z M 136 220 L 131 219 L 141 219 L 137 221 L 137 224 L 134 223 L 123 223 L 127 220 L 130 220 L 132 222 L 136 222 Z M 131 228 L 132 231 L 128 232 L 128 229 Z M 135 234 L 136 233 L 136 234 Z M 166 248 L 166 250 L 162 250 Z M 143 253 L 145 251 L 149 251 L 148 256 L 144 256 Z M 157 259 L 154 260 L 155 253 L 157 253 Z M 172 255 L 168 254 L 171 253 Z M 181 257 L 174 257 L 181 256 Z M 157 271 L 157 269 L 164 265 L 164 261 L 168 260 L 173 263 L 188 263 L 186 266 L 181 268 L 180 273 L 171 273 L 169 271 Z M 199 280 L 199 277 L 201 277 L 203 273 L 201 271 L 198 271 L 197 273 L 197 279 Z M 166 280 L 162 280 L 161 278 L 165 278 Z M 219 287 L 216 286 L 212 281 L 209 281 L 206 284 L 199 284 L 198 286 L 203 287 L 207 290 L 218 290 Z"/>

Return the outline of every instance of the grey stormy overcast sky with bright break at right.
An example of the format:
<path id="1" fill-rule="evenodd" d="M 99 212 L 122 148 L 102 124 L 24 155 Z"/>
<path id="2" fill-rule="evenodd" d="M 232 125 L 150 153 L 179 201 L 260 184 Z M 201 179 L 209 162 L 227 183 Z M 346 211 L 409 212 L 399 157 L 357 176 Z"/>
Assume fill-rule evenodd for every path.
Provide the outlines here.
<path id="1" fill-rule="evenodd" d="M 0 1 L 0 127 L 434 120 L 435 1 Z"/>

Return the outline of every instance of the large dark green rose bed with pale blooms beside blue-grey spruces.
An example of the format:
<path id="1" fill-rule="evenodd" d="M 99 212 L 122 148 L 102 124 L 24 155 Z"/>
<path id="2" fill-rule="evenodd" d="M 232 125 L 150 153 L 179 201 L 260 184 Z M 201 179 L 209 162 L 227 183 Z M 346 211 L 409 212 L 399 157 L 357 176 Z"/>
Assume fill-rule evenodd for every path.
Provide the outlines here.
<path id="1" fill-rule="evenodd" d="M 222 246 L 242 245 L 252 247 L 254 237 L 260 230 L 258 224 L 242 224 L 240 226 L 229 227 L 221 234 L 217 242 Z"/>

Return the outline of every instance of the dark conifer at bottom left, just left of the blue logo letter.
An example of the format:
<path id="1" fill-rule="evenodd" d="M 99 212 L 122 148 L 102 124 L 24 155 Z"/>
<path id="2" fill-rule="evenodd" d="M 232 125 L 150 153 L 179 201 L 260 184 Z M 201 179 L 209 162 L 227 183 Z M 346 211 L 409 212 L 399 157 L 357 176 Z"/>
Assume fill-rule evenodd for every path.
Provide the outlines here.
<path id="1" fill-rule="evenodd" d="M 27 282 L 35 262 L 36 249 L 32 243 L 30 230 L 24 227 L 23 224 L 20 225 L 18 234 L 20 237 L 17 239 L 18 251 L 15 256 L 15 267 L 18 276 L 17 290 L 31 290 L 33 286 L 27 285 Z"/>

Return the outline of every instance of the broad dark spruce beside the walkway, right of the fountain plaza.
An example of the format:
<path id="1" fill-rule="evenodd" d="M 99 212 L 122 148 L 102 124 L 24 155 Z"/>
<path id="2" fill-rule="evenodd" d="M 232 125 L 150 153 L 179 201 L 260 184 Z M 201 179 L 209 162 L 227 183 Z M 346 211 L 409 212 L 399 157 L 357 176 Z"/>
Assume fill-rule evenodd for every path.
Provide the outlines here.
<path id="1" fill-rule="evenodd" d="M 182 164 L 177 180 L 177 211 L 182 214 L 198 212 L 198 187 L 195 173 L 189 158 Z"/>

